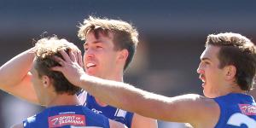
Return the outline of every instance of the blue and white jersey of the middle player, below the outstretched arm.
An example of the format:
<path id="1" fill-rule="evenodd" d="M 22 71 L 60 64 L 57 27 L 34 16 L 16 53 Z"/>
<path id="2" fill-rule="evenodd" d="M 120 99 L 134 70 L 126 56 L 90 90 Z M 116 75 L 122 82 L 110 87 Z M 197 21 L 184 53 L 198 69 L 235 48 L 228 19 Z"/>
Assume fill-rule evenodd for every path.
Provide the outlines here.
<path id="1" fill-rule="evenodd" d="M 133 118 L 133 113 L 127 112 L 125 110 L 114 108 L 112 106 L 102 107 L 97 102 L 94 96 L 91 96 L 86 91 L 82 91 L 79 95 L 79 101 L 87 108 L 95 113 L 100 113 L 108 117 L 108 119 L 113 119 L 122 124 L 125 124 L 128 128 L 131 128 L 131 121 Z"/>

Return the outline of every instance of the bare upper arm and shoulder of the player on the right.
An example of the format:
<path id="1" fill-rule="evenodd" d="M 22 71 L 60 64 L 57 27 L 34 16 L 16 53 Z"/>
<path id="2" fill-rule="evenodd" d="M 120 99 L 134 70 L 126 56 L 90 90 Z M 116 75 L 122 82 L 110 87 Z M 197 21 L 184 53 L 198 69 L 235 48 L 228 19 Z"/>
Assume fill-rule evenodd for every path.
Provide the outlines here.
<path id="1" fill-rule="evenodd" d="M 218 103 L 211 98 L 187 94 L 170 97 L 166 104 L 166 108 L 161 108 L 163 116 L 166 116 L 164 119 L 189 122 L 195 127 L 213 127 L 218 122 L 220 109 Z"/>

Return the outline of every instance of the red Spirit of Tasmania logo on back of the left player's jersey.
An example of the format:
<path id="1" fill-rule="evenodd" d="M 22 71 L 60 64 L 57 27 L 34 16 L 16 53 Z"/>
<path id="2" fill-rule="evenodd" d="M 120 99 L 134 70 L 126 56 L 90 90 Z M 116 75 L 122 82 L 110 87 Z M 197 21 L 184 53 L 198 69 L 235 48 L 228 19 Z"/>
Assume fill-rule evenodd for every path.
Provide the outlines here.
<path id="1" fill-rule="evenodd" d="M 85 117 L 81 114 L 60 114 L 48 118 L 49 127 L 61 127 L 63 125 L 85 126 Z"/>

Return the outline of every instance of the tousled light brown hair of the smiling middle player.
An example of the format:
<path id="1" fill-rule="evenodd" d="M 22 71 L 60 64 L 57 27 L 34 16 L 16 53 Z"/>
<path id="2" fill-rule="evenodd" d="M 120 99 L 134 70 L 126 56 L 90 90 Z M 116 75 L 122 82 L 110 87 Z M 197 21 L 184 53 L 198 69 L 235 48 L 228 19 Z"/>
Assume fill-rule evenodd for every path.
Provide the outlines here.
<path id="1" fill-rule="evenodd" d="M 86 40 L 89 32 L 94 32 L 96 38 L 99 37 L 99 33 L 104 36 L 108 36 L 109 32 L 113 33 L 114 49 L 127 49 L 129 52 L 124 69 L 128 67 L 138 43 L 138 32 L 134 26 L 123 20 L 109 20 L 90 16 L 84 20 L 83 24 L 80 24 L 78 36 L 81 40 Z"/>

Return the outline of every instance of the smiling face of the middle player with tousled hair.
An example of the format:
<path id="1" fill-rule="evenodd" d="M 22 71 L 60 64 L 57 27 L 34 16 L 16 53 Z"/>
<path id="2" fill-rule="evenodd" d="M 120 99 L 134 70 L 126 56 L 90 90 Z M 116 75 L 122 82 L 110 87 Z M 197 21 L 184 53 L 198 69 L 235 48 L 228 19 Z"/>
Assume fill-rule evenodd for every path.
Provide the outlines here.
<path id="1" fill-rule="evenodd" d="M 116 61 L 119 54 L 114 50 L 113 35 L 109 37 L 99 34 L 95 38 L 93 32 L 87 34 L 84 43 L 84 69 L 89 75 L 108 79 L 110 75 L 116 72 Z"/>

